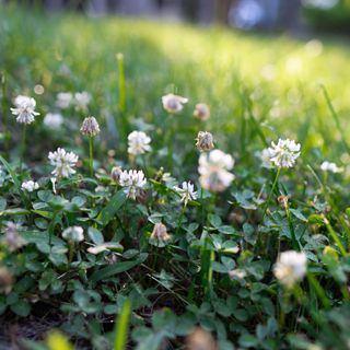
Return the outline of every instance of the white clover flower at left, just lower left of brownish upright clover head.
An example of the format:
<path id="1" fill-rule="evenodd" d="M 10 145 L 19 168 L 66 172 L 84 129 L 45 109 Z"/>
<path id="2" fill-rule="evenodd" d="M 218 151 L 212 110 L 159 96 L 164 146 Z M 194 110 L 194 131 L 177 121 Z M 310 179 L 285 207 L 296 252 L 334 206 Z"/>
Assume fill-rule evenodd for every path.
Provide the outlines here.
<path id="1" fill-rule="evenodd" d="M 51 172 L 55 176 L 69 177 L 75 174 L 73 167 L 77 165 L 78 155 L 73 152 L 66 152 L 65 149 L 58 148 L 57 151 L 48 153 L 48 159 L 51 165 L 56 166 Z"/>

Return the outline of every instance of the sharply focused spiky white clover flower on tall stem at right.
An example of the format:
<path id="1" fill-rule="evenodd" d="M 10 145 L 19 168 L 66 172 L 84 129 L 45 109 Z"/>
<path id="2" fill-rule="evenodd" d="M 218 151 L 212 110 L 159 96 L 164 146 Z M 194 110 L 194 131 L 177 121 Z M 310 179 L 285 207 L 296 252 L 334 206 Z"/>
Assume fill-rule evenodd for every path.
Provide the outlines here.
<path id="1" fill-rule="evenodd" d="M 271 142 L 270 161 L 277 167 L 292 167 L 300 156 L 300 143 L 295 143 L 294 140 L 279 139 L 278 143 Z"/>

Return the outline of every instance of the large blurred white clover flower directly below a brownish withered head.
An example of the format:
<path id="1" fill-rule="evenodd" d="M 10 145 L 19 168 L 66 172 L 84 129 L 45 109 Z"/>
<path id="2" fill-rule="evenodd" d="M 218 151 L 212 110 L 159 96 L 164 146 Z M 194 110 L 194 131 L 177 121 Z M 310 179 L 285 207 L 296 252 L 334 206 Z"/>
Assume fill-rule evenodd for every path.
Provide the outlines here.
<path id="1" fill-rule="evenodd" d="M 198 166 L 200 185 L 213 192 L 224 191 L 234 179 L 234 175 L 228 172 L 233 165 L 233 158 L 220 150 L 200 154 Z"/>

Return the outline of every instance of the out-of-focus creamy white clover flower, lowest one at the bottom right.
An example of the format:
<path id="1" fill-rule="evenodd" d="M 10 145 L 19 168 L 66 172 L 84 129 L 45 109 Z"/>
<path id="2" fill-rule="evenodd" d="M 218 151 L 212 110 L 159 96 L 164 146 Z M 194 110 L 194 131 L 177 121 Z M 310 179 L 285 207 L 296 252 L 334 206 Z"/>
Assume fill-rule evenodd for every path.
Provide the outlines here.
<path id="1" fill-rule="evenodd" d="M 281 284 L 292 288 L 306 273 L 306 255 L 294 250 L 280 254 L 273 267 L 273 273 Z"/>

